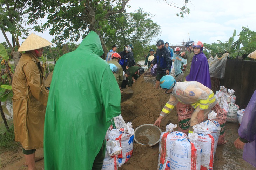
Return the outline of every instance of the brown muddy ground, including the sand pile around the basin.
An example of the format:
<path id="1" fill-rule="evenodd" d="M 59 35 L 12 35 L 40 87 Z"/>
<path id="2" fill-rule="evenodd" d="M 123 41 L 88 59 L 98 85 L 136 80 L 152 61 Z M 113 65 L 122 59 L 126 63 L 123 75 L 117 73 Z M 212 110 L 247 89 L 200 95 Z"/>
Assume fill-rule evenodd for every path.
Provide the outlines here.
<path id="1" fill-rule="evenodd" d="M 121 111 L 126 122 L 132 122 L 134 130 L 142 124 L 153 124 L 159 116 L 169 97 L 164 90 L 154 88 L 155 78 L 142 77 L 132 86 L 133 94 L 122 94 Z M 178 123 L 176 109 L 174 109 L 161 123 L 161 130 L 166 131 L 166 124 Z M 234 147 L 233 142 L 238 137 L 238 123 L 226 124 L 225 140 L 227 143 L 218 145 L 214 156 L 215 170 L 256 170 L 242 159 L 242 150 Z M 155 170 L 158 164 L 159 144 L 150 147 L 134 143 L 130 160 L 118 168 L 119 170 Z M 43 156 L 43 149 L 36 151 L 36 156 Z M 22 166 L 25 162 L 22 151 L 18 153 L 6 152 L 0 154 L 0 165 L 3 170 L 26 170 Z M 38 170 L 43 170 L 44 161 L 36 162 Z"/>

